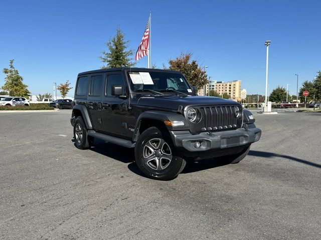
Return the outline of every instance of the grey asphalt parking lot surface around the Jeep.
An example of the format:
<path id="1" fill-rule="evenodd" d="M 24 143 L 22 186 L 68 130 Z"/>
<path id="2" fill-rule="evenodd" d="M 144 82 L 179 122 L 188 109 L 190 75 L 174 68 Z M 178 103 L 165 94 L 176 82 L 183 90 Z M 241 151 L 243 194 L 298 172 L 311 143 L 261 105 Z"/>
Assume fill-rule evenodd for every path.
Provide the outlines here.
<path id="1" fill-rule="evenodd" d="M 142 176 L 132 149 L 77 149 L 70 114 L 0 112 L 0 238 L 321 238 L 321 113 L 255 114 L 243 161 L 171 181 Z"/>

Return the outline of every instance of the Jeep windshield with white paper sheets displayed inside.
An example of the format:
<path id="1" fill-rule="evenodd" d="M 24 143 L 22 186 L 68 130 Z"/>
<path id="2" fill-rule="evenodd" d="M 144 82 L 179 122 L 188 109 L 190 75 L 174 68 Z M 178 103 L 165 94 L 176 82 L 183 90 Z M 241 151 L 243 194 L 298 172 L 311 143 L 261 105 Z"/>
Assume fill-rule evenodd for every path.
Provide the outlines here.
<path id="1" fill-rule="evenodd" d="M 166 92 L 167 94 L 188 94 L 193 93 L 190 84 L 182 73 L 162 71 L 132 71 L 128 72 L 130 87 L 136 92 Z M 156 92 L 153 92 L 156 91 Z"/>

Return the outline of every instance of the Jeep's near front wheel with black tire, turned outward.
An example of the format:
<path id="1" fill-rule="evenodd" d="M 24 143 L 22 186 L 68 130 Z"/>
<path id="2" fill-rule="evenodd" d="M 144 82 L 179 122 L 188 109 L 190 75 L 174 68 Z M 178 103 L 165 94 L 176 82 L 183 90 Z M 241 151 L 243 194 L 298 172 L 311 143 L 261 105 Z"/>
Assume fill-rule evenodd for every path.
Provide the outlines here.
<path id="1" fill-rule="evenodd" d="M 158 180 L 175 178 L 186 165 L 169 134 L 157 127 L 149 127 L 139 135 L 135 145 L 135 159 L 147 177 Z"/>

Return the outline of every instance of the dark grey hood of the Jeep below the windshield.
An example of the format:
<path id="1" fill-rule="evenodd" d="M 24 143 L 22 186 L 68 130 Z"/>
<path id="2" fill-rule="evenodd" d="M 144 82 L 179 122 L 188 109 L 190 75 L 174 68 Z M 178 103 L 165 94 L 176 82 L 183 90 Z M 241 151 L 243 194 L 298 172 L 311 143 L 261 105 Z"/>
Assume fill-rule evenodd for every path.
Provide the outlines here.
<path id="1" fill-rule="evenodd" d="M 177 110 L 180 105 L 185 108 L 188 105 L 235 104 L 238 102 L 216 96 L 146 96 L 136 97 L 132 103 Z"/>

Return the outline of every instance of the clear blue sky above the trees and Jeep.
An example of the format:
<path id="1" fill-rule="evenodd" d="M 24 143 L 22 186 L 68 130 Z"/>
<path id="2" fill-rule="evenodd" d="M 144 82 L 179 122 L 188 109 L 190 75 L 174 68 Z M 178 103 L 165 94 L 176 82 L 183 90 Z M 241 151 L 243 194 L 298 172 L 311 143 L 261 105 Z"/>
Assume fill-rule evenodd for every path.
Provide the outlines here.
<path id="1" fill-rule="evenodd" d="M 192 51 L 211 79 L 242 80 L 248 93 L 265 93 L 265 40 L 269 87 L 296 92 L 321 70 L 319 0 L 4 1 L 0 9 L 0 68 L 15 66 L 33 94 L 53 82 L 74 86 L 78 72 L 98 69 L 117 25 L 136 51 L 152 12 L 152 62 L 167 64 Z M 134 56 L 133 56 L 134 57 Z M 136 66 L 145 67 L 147 57 Z M 0 86 L 5 75 L 0 74 Z M 68 95 L 73 95 L 73 90 Z"/>

